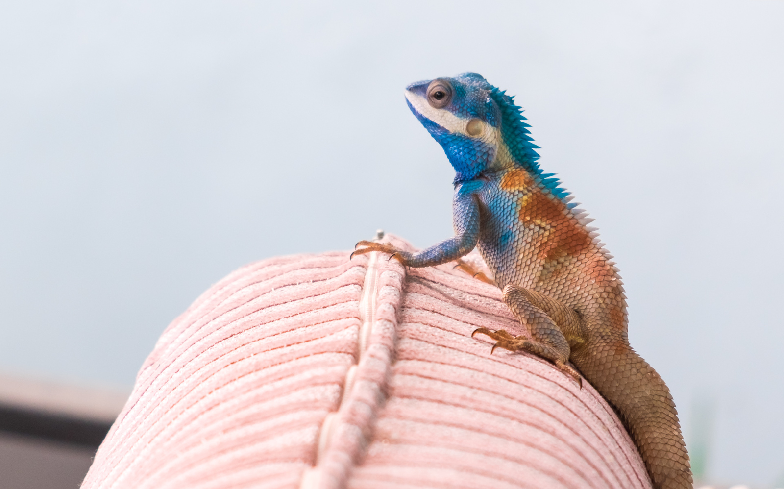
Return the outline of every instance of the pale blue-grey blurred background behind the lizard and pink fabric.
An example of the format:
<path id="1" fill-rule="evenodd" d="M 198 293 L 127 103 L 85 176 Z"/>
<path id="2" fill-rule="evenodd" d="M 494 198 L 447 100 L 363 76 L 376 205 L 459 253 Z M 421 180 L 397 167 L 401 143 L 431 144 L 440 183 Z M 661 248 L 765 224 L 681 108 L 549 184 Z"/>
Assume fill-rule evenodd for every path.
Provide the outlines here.
<path id="1" fill-rule="evenodd" d="M 784 486 L 784 2 L 2 11 L 0 422 L 107 429 L 166 325 L 245 263 L 451 236 L 452 168 L 402 90 L 477 71 L 596 219 L 695 473 Z M 98 443 L 0 429 L 5 484 L 56 448 L 75 487 Z"/>

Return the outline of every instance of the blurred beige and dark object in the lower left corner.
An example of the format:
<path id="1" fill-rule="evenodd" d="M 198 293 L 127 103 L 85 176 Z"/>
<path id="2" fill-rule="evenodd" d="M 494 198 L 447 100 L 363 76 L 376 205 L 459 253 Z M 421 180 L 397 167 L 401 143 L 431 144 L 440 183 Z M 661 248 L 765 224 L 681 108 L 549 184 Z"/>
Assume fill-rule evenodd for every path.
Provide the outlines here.
<path id="1" fill-rule="evenodd" d="M 127 397 L 0 375 L 0 489 L 78 487 Z"/>

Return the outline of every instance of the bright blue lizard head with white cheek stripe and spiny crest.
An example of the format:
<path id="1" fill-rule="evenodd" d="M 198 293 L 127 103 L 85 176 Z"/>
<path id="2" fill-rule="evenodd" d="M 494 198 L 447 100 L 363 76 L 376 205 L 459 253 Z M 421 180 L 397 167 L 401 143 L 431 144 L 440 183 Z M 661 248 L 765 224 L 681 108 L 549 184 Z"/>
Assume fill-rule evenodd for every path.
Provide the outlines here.
<path id="1" fill-rule="evenodd" d="M 436 139 L 457 172 L 456 182 L 509 165 L 532 165 L 539 154 L 521 108 L 476 73 L 416 82 L 405 89 L 408 107 Z"/>

